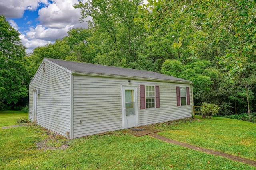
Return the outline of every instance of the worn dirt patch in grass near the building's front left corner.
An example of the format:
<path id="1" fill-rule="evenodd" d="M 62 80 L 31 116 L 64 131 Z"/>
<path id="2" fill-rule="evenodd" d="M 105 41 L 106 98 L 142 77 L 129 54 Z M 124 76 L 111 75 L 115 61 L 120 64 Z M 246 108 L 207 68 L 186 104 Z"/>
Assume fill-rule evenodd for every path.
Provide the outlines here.
<path id="1" fill-rule="evenodd" d="M 66 149 L 69 147 L 68 139 L 54 133 L 47 133 L 48 138 L 36 143 L 36 147 L 42 150 Z"/>

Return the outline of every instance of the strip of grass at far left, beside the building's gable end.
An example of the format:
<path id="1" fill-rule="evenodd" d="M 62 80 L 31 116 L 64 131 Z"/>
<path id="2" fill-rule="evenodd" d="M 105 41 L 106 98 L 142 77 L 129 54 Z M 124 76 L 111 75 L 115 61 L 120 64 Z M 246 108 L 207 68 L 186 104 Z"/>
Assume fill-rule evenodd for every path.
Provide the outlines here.
<path id="1" fill-rule="evenodd" d="M 23 111 L 0 111 L 0 127 L 15 125 L 16 120 L 26 117 L 28 119 L 28 113 Z"/>

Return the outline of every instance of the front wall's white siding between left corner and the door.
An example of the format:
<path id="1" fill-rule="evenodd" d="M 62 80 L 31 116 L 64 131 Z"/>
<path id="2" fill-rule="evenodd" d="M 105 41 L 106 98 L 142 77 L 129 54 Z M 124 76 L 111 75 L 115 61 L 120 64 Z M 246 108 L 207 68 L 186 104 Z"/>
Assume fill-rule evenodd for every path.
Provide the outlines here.
<path id="1" fill-rule="evenodd" d="M 124 81 L 74 75 L 74 138 L 122 129 L 121 84 Z"/>

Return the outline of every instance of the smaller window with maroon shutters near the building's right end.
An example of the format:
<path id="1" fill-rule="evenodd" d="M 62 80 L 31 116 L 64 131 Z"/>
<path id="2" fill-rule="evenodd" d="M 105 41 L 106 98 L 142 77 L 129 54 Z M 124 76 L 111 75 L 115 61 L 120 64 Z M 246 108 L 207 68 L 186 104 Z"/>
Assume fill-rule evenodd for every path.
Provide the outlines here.
<path id="1" fill-rule="evenodd" d="M 176 87 L 177 106 L 190 105 L 189 87 Z"/>

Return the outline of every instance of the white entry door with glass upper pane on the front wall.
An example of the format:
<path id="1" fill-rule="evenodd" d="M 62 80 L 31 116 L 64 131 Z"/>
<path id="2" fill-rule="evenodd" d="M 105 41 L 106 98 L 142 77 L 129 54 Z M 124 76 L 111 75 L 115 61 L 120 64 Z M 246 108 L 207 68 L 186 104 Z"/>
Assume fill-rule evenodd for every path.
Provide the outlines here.
<path id="1" fill-rule="evenodd" d="M 122 86 L 122 128 L 137 126 L 137 87 Z"/>

